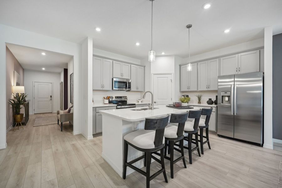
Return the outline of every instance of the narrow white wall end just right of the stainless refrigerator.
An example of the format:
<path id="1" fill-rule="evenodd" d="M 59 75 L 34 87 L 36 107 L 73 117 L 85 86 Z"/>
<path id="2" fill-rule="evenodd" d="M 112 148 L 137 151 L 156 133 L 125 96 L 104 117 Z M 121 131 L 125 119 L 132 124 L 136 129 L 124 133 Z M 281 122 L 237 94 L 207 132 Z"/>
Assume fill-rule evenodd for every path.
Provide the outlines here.
<path id="1" fill-rule="evenodd" d="M 272 26 L 264 28 L 264 148 L 272 142 Z"/>

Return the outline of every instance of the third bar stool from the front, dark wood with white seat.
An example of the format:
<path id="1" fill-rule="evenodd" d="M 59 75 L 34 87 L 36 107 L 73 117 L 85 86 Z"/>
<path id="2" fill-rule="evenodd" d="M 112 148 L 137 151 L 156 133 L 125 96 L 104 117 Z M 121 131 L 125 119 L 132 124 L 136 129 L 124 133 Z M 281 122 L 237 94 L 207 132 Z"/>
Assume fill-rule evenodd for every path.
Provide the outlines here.
<path id="1" fill-rule="evenodd" d="M 188 141 L 188 147 L 183 146 L 183 148 L 188 149 L 189 153 L 189 162 L 192 164 L 192 152 L 197 150 L 199 157 L 201 157 L 199 144 L 198 144 L 198 131 L 199 131 L 199 121 L 201 118 L 202 110 L 190 110 L 188 114 L 188 118 L 194 118 L 194 122 L 186 121 L 184 127 L 184 133 L 188 133 L 188 136 L 184 136 L 184 140 Z M 195 133 L 196 147 L 192 149 L 192 137 Z M 175 144 L 180 147 L 180 144 Z"/>

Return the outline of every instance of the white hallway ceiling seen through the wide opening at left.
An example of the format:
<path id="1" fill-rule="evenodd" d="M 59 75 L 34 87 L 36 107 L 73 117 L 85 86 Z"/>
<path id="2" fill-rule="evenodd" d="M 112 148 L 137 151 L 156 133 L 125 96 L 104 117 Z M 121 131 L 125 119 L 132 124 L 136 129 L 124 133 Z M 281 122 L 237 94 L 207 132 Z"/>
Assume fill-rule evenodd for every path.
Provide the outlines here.
<path id="1" fill-rule="evenodd" d="M 15 44 L 6 45 L 24 69 L 61 72 L 64 68 L 68 68 L 68 62 L 72 59 L 70 55 L 56 52 Z M 42 52 L 46 55 L 42 55 Z M 42 70 L 42 68 L 45 68 L 45 70 Z"/>

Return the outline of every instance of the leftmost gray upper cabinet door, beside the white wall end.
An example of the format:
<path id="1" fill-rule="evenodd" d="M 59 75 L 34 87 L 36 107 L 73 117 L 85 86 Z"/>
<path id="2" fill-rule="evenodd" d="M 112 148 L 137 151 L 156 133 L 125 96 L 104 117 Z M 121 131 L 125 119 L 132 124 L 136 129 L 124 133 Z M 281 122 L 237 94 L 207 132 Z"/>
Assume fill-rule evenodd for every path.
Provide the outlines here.
<path id="1" fill-rule="evenodd" d="M 93 90 L 102 90 L 103 59 L 93 57 Z"/>

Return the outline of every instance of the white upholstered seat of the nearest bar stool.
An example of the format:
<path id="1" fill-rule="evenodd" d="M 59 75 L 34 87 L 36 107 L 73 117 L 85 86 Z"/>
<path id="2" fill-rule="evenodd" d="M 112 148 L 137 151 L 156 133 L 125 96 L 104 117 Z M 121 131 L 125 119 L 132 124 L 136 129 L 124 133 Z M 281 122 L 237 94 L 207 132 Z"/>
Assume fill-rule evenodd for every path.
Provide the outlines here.
<path id="1" fill-rule="evenodd" d="M 155 139 L 154 130 L 142 129 L 142 130 L 133 131 L 124 136 L 124 140 L 142 149 L 155 148 L 154 139 Z M 165 144 L 165 137 L 163 138 L 163 144 Z"/>

